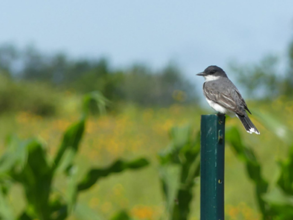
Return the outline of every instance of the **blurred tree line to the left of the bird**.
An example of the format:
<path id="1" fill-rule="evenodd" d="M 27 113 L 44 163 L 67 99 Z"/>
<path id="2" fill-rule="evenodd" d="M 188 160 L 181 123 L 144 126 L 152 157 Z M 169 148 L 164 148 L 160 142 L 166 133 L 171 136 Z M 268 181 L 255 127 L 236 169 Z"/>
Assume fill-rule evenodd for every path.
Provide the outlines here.
<path id="1" fill-rule="evenodd" d="M 81 94 L 99 90 L 113 102 L 168 106 L 197 99 L 194 86 L 173 64 L 157 71 L 146 65 L 117 70 L 104 58 L 74 60 L 63 53 L 47 55 L 34 46 L 2 44 L 0 72 L 6 81 L 37 82 Z"/>

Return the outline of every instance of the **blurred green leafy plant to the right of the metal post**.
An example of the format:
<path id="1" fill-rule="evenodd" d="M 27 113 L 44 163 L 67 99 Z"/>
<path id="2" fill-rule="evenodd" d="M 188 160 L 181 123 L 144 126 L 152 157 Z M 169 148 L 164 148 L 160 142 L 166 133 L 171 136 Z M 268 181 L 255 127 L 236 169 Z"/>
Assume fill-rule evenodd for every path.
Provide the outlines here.
<path id="1" fill-rule="evenodd" d="M 275 125 L 275 123 L 273 123 Z M 269 128 L 270 128 L 269 123 Z M 226 132 L 226 140 L 234 152 L 246 165 L 249 178 L 255 185 L 255 195 L 263 220 L 293 219 L 293 146 L 288 157 L 280 161 L 279 178 L 276 183 L 269 183 L 261 174 L 262 166 L 253 150 L 243 144 L 239 131 L 232 127 Z"/>

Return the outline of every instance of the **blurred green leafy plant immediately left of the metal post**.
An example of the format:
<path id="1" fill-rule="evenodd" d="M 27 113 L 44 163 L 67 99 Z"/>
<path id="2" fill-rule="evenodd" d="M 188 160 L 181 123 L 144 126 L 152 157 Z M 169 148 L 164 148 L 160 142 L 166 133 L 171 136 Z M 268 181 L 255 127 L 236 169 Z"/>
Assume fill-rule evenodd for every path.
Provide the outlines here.
<path id="1" fill-rule="evenodd" d="M 170 130 L 171 142 L 159 154 L 162 190 L 170 220 L 187 220 L 189 205 L 193 197 L 194 178 L 200 172 L 200 136 L 194 137 L 190 126 Z M 169 171 L 175 166 L 180 169 L 179 176 L 170 177 Z M 171 179 L 177 178 L 179 188 L 172 189 Z M 172 192 L 173 191 L 173 192 Z"/>

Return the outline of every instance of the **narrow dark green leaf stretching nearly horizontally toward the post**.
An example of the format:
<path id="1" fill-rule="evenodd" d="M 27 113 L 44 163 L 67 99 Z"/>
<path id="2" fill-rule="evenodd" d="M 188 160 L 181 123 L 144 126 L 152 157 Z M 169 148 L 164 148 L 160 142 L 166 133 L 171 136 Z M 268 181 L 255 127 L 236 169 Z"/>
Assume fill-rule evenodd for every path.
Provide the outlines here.
<path id="1" fill-rule="evenodd" d="M 100 178 L 108 176 L 112 173 L 120 173 L 126 169 L 139 169 L 147 166 L 149 162 L 145 158 L 136 159 L 130 162 L 123 160 L 117 160 L 107 168 L 102 169 L 91 169 L 84 177 L 82 182 L 78 184 L 78 191 L 82 191 L 90 188 Z"/>

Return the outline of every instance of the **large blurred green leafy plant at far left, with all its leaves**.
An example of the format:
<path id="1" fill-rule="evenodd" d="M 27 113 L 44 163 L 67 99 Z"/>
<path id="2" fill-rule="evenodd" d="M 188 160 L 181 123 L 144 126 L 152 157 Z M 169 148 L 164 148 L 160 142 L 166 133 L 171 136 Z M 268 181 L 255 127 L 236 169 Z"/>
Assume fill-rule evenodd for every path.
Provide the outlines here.
<path id="1" fill-rule="evenodd" d="M 78 204 L 80 191 L 90 188 L 101 177 L 120 173 L 128 169 L 140 169 L 148 165 L 145 158 L 133 161 L 117 160 L 106 168 L 92 168 L 79 181 L 78 167 L 74 158 L 84 134 L 89 102 L 95 100 L 99 109 L 105 108 L 105 98 L 100 93 L 91 93 L 84 98 L 84 112 L 63 134 L 63 140 L 53 160 L 38 139 L 21 141 L 11 136 L 7 150 L 0 158 L 0 218 L 5 220 L 64 220 Z M 68 179 L 66 193 L 52 188 L 57 173 L 64 173 Z M 15 216 L 8 205 L 11 186 L 19 183 L 25 192 L 26 207 L 20 216 Z M 79 209 L 77 208 L 77 211 Z M 81 213 L 79 213 L 81 215 Z M 88 214 L 87 214 L 88 216 Z M 82 219 L 87 219 L 83 217 Z M 123 218 L 116 218 L 122 219 Z M 125 219 L 125 218 L 124 218 Z"/>

